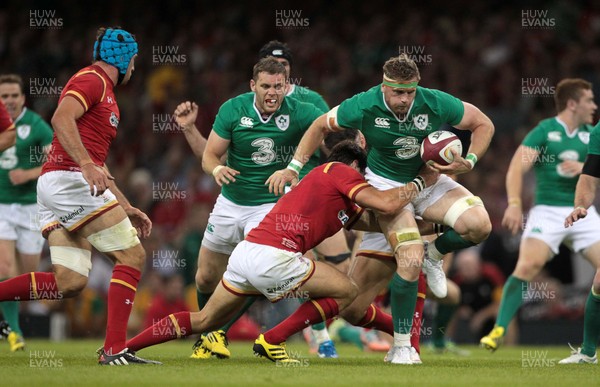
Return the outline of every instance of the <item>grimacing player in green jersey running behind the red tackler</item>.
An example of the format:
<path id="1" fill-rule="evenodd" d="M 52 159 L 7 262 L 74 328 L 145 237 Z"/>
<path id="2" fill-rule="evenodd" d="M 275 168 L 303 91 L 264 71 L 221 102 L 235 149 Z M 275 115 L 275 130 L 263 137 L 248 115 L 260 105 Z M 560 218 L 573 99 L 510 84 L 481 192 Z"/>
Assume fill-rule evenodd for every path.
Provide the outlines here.
<path id="1" fill-rule="evenodd" d="M 269 192 L 265 180 L 285 168 L 304 132 L 322 114 L 311 104 L 286 98 L 287 87 L 285 67 L 275 58 L 261 59 L 253 69 L 252 92 L 225 102 L 215 118 L 202 168 L 214 176 L 222 190 L 198 256 L 196 285 L 200 309 L 220 281 L 235 246 L 278 200 Z M 176 115 L 179 113 L 176 111 Z M 227 161 L 223 164 L 225 155 Z M 301 224 L 285 225 L 296 226 Z M 201 338 L 192 357 L 206 358 L 211 354 L 230 356 L 223 331 Z"/>

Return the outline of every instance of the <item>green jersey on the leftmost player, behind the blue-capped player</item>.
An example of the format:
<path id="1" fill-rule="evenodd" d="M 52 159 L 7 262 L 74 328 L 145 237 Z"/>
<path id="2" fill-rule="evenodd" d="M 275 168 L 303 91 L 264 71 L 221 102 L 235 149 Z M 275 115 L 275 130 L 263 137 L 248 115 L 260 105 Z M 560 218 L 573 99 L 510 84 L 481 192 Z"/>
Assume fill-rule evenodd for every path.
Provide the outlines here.
<path id="1" fill-rule="evenodd" d="M 27 108 L 15 120 L 15 127 L 16 144 L 0 153 L 0 203 L 33 204 L 37 202 L 37 179 L 13 185 L 8 172 L 42 165 L 44 147 L 52 142 L 54 132 L 39 114 Z"/>

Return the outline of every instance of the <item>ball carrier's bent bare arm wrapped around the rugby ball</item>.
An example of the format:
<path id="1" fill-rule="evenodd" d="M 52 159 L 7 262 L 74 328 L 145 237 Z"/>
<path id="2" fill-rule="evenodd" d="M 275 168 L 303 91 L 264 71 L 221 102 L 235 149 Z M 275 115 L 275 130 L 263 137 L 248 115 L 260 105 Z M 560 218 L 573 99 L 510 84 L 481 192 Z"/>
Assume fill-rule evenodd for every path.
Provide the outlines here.
<path id="1" fill-rule="evenodd" d="M 437 170 L 448 175 L 459 175 L 471 171 L 477 160 L 481 159 L 487 151 L 494 136 L 494 124 L 488 116 L 468 102 L 463 102 L 463 106 L 465 112 L 456 128 L 471 132 L 471 146 L 465 158 L 452 152 L 454 161 L 450 165 L 435 165 Z"/>

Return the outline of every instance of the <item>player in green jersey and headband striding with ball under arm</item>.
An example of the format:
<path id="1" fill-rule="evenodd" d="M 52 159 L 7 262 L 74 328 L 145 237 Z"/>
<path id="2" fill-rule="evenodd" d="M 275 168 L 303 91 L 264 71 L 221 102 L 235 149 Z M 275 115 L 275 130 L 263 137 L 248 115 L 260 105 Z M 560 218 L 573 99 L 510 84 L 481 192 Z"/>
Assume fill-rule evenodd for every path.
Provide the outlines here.
<path id="1" fill-rule="evenodd" d="M 434 167 L 444 174 L 471 171 L 489 146 L 494 133 L 492 122 L 472 104 L 439 90 L 420 87 L 419 81 L 419 69 L 407 55 L 390 58 L 383 66 L 381 84 L 347 99 L 311 125 L 288 167 L 275 172 L 267 180 L 269 189 L 276 194 L 282 193 L 284 186 L 298 176 L 303 161 L 316 149 L 324 135 L 345 128 L 357 128 L 364 134 L 370 149 L 366 178 L 379 189 L 411 182 L 423 165 L 419 154 L 421 142 L 446 124 L 471 131 L 471 146 L 465 158 L 455 153 L 450 165 L 434 164 Z M 424 253 L 415 215 L 450 227 L 428 247 L 427 258 L 432 266 L 438 267 L 438 271 L 441 271 L 439 260 L 444 254 L 478 244 L 491 231 L 489 216 L 481 199 L 442 175 L 436 184 L 423 190 L 400 213 L 379 217 L 385 238 L 378 234 L 365 234 L 361 250 L 382 252 L 380 255 L 392 254 L 395 262 L 365 257 L 357 259 L 352 278 L 360 288 L 359 296 L 342 313 L 342 317 L 355 323 L 359 311 L 364 312 L 391 278 L 395 333 L 394 346 L 386 360 L 394 364 L 413 364 L 410 330 Z M 428 277 L 430 273 L 427 273 Z M 436 286 L 440 286 L 438 293 L 445 290 L 443 274 L 441 279 L 443 285 L 428 282 L 434 292 Z"/>

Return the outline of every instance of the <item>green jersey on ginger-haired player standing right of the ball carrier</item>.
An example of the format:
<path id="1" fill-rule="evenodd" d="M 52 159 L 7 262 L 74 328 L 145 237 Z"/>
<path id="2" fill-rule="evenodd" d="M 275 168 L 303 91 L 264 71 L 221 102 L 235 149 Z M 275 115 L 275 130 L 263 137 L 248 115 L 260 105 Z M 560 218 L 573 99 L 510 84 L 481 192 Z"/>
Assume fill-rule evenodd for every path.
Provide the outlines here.
<path id="1" fill-rule="evenodd" d="M 559 164 L 565 160 L 585 160 L 590 130 L 590 125 L 582 125 L 568 134 L 566 125 L 552 117 L 540 121 L 527 134 L 522 145 L 539 152 L 533 165 L 535 204 L 573 206 L 578 176 L 562 172 Z"/>

